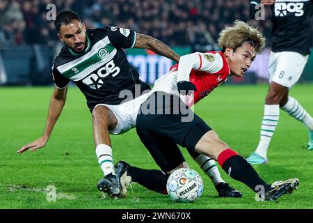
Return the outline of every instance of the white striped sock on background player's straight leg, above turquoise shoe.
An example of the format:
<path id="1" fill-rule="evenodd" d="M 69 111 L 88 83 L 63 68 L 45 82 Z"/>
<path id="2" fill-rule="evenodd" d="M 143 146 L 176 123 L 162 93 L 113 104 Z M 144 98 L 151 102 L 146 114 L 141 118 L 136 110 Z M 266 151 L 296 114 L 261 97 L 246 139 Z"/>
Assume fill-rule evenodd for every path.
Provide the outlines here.
<path id="1" fill-rule="evenodd" d="M 267 149 L 273 137 L 278 119 L 280 118 L 280 105 L 264 105 L 259 144 L 255 153 L 266 158 Z"/>

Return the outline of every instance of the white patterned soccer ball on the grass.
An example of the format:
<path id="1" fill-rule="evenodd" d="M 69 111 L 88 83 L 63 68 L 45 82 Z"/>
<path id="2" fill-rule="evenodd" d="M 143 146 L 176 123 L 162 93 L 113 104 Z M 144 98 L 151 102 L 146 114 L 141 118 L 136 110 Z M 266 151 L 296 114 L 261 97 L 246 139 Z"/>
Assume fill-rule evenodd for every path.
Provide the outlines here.
<path id="1" fill-rule="evenodd" d="M 168 190 L 168 197 L 173 201 L 193 202 L 203 192 L 203 181 L 193 169 L 180 168 L 168 177 L 166 190 Z"/>

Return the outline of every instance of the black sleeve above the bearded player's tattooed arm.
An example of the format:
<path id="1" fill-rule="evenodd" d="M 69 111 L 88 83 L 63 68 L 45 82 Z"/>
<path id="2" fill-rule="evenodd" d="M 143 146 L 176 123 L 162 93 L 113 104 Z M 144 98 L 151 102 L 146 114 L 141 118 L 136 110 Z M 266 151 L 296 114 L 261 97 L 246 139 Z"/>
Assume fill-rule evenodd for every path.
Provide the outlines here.
<path id="1" fill-rule="evenodd" d="M 136 43 L 136 32 L 131 29 L 106 26 L 106 33 L 116 48 L 132 48 Z"/>

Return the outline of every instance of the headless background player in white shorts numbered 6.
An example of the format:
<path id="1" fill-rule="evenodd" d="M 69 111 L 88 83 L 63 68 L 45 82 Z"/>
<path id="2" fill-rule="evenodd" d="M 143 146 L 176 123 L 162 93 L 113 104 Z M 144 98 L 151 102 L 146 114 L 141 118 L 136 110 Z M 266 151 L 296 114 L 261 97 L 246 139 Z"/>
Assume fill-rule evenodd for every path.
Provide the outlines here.
<path id="1" fill-rule="evenodd" d="M 251 7 L 254 8 L 256 3 L 251 2 Z M 307 127 L 307 149 L 313 150 L 313 118 L 295 98 L 289 96 L 289 89 L 298 82 L 309 58 L 313 0 L 261 0 L 261 3 L 271 6 L 273 45 L 268 66 L 270 86 L 265 99 L 259 144 L 247 159 L 251 164 L 268 162 L 267 150 L 278 125 L 280 109 Z"/>

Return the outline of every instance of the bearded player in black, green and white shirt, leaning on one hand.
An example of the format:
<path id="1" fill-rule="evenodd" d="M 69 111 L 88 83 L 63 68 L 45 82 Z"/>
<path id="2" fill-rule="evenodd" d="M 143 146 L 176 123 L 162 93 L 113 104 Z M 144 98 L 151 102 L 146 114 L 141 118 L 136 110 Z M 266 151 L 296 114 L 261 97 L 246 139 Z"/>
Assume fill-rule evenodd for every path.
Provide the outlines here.
<path id="1" fill-rule="evenodd" d="M 130 66 L 122 48 L 150 49 L 176 62 L 179 61 L 179 55 L 161 41 L 130 29 L 104 26 L 102 29 L 87 30 L 79 15 L 69 10 L 57 15 L 55 26 L 58 37 L 65 45 L 52 68 L 55 88 L 45 132 L 39 139 L 22 146 L 17 153 L 24 153 L 28 149 L 35 151 L 47 144 L 65 105 L 67 85 L 72 81 L 85 95 L 92 112 L 95 150 L 104 173 L 98 188 L 102 192 L 109 190 L 111 195 L 120 194 L 119 187 L 113 187 L 116 176 L 109 133 L 122 134 L 134 128 L 136 117 L 131 114 L 137 114 L 141 103 L 147 98 L 148 93 L 143 91 L 150 90 L 150 86 L 141 82 L 138 72 Z M 139 92 L 136 92 L 135 86 L 140 86 Z M 122 91 L 131 93 L 129 103 L 120 97 Z M 220 176 L 217 168 L 212 175 Z M 220 177 L 218 179 L 221 180 L 216 188 L 219 194 L 223 194 L 223 197 L 241 197 L 239 191 Z M 103 183 L 111 185 L 113 190 L 102 187 Z"/>

